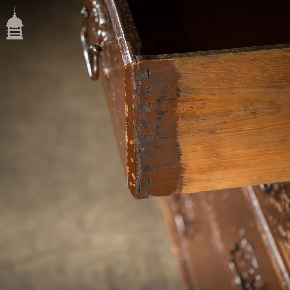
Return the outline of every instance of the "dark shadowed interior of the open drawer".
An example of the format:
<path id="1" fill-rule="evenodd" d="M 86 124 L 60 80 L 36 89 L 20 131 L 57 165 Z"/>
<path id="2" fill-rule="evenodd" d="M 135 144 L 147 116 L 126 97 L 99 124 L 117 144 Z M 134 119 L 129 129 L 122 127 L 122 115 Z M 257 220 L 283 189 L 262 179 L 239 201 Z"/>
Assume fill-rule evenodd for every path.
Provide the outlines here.
<path id="1" fill-rule="evenodd" d="M 290 43 L 290 1 L 128 0 L 145 55 Z"/>

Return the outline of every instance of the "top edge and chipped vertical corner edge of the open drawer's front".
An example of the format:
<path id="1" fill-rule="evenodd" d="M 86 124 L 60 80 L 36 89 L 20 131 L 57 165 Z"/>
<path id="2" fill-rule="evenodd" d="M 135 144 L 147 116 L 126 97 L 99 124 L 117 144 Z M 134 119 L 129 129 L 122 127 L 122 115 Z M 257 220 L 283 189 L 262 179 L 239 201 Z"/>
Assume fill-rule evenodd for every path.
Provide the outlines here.
<path id="1" fill-rule="evenodd" d="M 90 0 L 92 1 L 92 0 Z M 135 67 L 137 59 L 143 54 L 141 42 L 127 0 L 104 0 L 113 26 L 113 35 L 116 39 L 124 70 L 119 70 L 119 76 L 124 78 L 124 113 L 126 118 L 126 166 L 124 168 L 126 182 L 131 194 L 139 196 L 136 189 L 136 153 L 135 153 L 135 111 L 134 99 L 136 96 Z M 112 56 L 113 57 L 113 56 Z M 122 157 L 122 156 L 121 156 Z"/>

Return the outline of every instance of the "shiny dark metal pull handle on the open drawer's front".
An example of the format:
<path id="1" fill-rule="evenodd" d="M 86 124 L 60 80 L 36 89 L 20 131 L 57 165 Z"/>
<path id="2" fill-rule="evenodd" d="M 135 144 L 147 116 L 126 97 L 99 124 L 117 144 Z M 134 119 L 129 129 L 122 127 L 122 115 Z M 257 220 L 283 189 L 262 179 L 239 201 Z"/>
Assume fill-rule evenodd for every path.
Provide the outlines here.
<path id="1" fill-rule="evenodd" d="M 88 16 L 89 10 L 84 7 L 81 10 L 83 15 L 82 27 L 81 27 L 81 44 L 83 46 L 84 57 L 88 68 L 89 77 L 93 80 L 97 80 L 99 77 L 99 51 L 104 47 L 104 41 L 100 44 L 90 45 L 88 36 Z"/>

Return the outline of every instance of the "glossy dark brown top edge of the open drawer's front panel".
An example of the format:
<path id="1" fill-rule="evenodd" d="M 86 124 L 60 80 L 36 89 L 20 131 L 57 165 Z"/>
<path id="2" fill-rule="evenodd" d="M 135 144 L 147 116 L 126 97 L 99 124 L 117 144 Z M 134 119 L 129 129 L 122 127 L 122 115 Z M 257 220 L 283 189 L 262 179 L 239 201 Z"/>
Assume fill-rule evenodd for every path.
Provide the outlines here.
<path id="1" fill-rule="evenodd" d="M 127 0 L 105 0 L 124 65 L 142 56 L 142 44 Z"/>

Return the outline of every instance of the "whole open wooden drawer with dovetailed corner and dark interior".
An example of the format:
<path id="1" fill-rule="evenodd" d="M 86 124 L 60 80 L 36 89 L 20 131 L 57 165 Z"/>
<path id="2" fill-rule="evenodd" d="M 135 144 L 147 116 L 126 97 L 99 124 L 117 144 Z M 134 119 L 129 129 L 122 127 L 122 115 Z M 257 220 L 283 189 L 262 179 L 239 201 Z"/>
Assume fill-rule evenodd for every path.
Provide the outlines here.
<path id="1" fill-rule="evenodd" d="M 288 1 L 84 6 L 84 54 L 134 197 L 290 180 Z"/>

